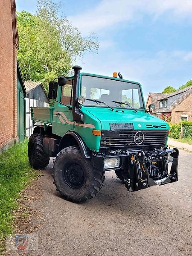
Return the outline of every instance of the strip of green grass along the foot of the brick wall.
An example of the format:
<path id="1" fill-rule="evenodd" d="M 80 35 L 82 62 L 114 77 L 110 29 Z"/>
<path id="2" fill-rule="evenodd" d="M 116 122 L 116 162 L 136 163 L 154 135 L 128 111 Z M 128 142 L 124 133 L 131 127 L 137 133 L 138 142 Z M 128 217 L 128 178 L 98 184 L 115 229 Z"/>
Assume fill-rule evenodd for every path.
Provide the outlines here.
<path id="1" fill-rule="evenodd" d="M 0 252 L 5 236 L 13 232 L 12 210 L 18 208 L 20 191 L 38 176 L 28 163 L 28 140 L 20 142 L 0 155 Z"/>

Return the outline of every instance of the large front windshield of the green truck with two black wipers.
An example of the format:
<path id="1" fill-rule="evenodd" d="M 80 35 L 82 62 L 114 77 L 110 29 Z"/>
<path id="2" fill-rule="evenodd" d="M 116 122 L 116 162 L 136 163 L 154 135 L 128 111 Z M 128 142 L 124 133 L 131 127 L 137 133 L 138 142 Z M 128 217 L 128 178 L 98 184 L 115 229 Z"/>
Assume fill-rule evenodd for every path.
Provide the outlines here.
<path id="1" fill-rule="evenodd" d="M 139 84 L 86 75 L 82 76 L 81 84 L 81 95 L 86 99 L 100 100 L 113 108 L 129 108 L 125 104 L 113 102 L 119 101 L 135 109 L 144 109 Z M 96 102 L 90 100 L 85 100 L 83 105 L 99 107 Z M 100 106 L 107 107 L 102 103 Z"/>

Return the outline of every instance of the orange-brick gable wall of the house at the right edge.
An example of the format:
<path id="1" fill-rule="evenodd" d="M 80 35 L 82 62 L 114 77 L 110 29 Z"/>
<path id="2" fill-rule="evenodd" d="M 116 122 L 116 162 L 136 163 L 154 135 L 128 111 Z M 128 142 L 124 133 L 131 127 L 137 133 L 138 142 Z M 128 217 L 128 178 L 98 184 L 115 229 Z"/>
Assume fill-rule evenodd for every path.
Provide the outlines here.
<path id="1" fill-rule="evenodd" d="M 188 115 L 188 121 L 192 121 L 192 94 L 183 100 L 176 108 L 172 110 L 172 123 L 179 124 L 181 115 Z"/>

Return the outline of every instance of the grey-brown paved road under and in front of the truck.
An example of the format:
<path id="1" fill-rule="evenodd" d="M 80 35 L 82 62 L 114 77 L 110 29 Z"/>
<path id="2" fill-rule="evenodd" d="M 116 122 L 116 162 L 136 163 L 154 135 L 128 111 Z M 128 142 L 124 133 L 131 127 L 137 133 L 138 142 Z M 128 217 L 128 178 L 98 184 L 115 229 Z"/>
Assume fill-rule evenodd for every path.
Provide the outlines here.
<path id="1" fill-rule="evenodd" d="M 100 193 L 84 204 L 60 198 L 51 167 L 33 203 L 44 224 L 29 255 L 192 255 L 192 154 L 180 151 L 179 182 L 130 193 L 107 172 Z"/>

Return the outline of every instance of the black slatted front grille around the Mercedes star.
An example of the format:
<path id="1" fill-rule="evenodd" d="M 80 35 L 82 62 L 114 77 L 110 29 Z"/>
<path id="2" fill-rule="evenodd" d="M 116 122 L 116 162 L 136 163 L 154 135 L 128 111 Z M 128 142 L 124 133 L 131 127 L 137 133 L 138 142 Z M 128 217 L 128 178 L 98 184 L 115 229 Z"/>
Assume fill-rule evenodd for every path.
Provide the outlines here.
<path id="1" fill-rule="evenodd" d="M 101 133 L 100 148 L 161 148 L 166 144 L 167 130 L 141 130 L 144 140 L 140 145 L 134 142 L 139 130 L 104 130 Z"/>

